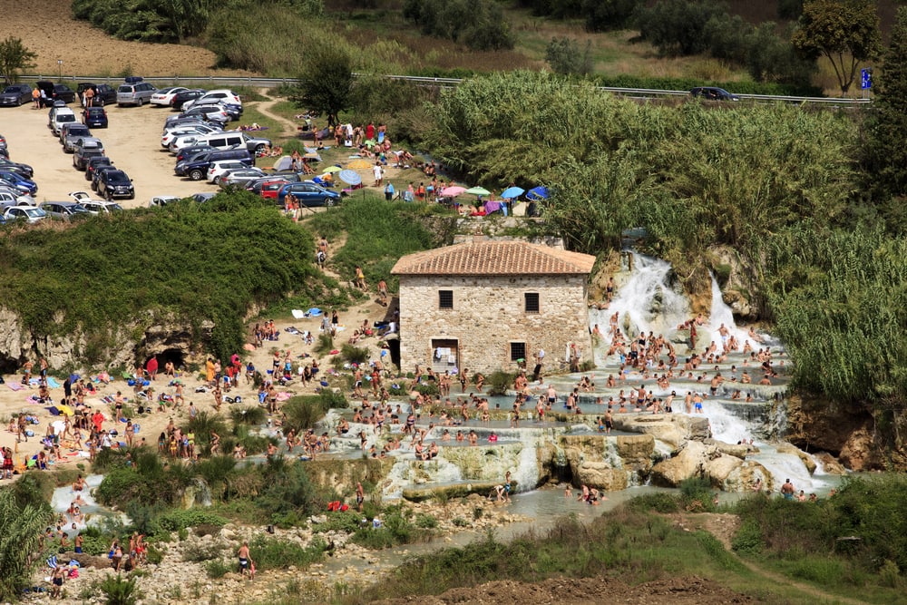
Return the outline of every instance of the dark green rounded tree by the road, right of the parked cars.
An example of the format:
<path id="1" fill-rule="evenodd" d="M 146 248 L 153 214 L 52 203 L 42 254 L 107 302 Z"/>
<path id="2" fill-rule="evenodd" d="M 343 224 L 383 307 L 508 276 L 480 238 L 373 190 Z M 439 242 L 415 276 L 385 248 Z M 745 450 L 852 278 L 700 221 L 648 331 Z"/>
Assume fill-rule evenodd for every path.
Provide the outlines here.
<path id="1" fill-rule="evenodd" d="M 352 90 L 352 57 L 336 45 L 316 45 L 291 98 L 307 109 L 336 115 L 349 107 Z"/>

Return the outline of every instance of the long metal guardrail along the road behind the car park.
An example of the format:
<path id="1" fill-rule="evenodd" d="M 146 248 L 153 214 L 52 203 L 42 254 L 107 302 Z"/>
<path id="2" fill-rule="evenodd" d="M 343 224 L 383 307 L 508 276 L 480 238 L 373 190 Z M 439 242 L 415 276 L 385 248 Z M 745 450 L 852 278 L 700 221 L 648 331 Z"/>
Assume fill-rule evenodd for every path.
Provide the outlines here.
<path id="1" fill-rule="evenodd" d="M 356 77 L 364 77 L 365 74 L 354 73 Z M 453 88 L 462 83 L 460 78 L 432 78 L 419 75 L 385 75 L 385 78 L 391 80 L 402 80 L 421 86 L 435 86 L 440 88 Z M 25 81 L 37 80 L 54 80 L 61 83 L 80 83 L 93 82 L 105 84 L 122 83 L 122 77 L 98 76 L 98 75 L 24 75 Z M 152 76 L 144 78 L 145 82 L 161 86 L 187 86 L 198 88 L 224 88 L 229 86 L 248 86 L 249 88 L 277 88 L 278 86 L 293 86 L 299 83 L 296 78 L 252 78 L 239 76 Z M 73 89 L 75 86 L 73 85 Z M 650 88 L 619 88 L 613 86 L 600 86 L 600 91 L 619 94 L 622 96 L 638 99 L 657 99 L 662 97 L 680 97 L 687 96 L 688 91 L 667 91 Z M 738 94 L 741 101 L 754 102 L 792 102 L 798 104 L 815 104 L 830 105 L 834 107 L 860 107 L 872 104 L 873 100 L 868 99 L 847 99 L 836 97 L 795 97 L 774 94 Z"/>

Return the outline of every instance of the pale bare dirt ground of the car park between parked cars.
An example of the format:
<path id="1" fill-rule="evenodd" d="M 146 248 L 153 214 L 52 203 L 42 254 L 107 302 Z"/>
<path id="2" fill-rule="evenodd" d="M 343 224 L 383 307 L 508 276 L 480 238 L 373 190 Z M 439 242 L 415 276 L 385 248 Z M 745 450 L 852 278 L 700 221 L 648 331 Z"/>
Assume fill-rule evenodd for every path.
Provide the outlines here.
<path id="1" fill-rule="evenodd" d="M 77 117 L 82 111 L 70 107 Z M 70 191 L 91 191 L 85 173 L 73 168 L 73 155 L 65 153 L 59 139 L 47 127 L 49 109 L 22 107 L 0 108 L 0 134 L 6 137 L 10 159 L 30 164 L 38 184 L 36 201 L 69 200 Z M 168 108 L 107 107 L 110 125 L 93 129 L 104 143 L 113 163 L 125 171 L 135 185 L 134 200 L 119 200 L 123 208 L 147 206 L 158 195 L 190 196 L 200 191 L 217 191 L 207 181 L 190 181 L 173 174 L 175 156 L 161 147 L 161 132 Z M 93 197 L 97 197 L 93 195 Z"/>

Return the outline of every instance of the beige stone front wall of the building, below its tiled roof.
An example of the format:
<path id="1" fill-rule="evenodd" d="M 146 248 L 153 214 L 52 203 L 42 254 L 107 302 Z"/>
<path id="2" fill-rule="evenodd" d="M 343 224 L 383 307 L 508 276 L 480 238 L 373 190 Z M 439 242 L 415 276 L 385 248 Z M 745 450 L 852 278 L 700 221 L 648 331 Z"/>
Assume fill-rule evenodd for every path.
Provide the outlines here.
<path id="1" fill-rule="evenodd" d="M 453 308 L 439 308 L 438 291 L 453 291 Z M 539 313 L 526 313 L 523 295 L 539 294 Z M 511 343 L 526 344 L 526 364 L 544 348 L 548 371 L 560 369 L 576 343 L 591 358 L 586 276 L 401 276 L 400 357 L 404 371 L 432 363 L 433 339 L 459 342 L 459 368 L 471 373 L 516 371 Z M 452 366 L 453 367 L 453 366 Z"/>

